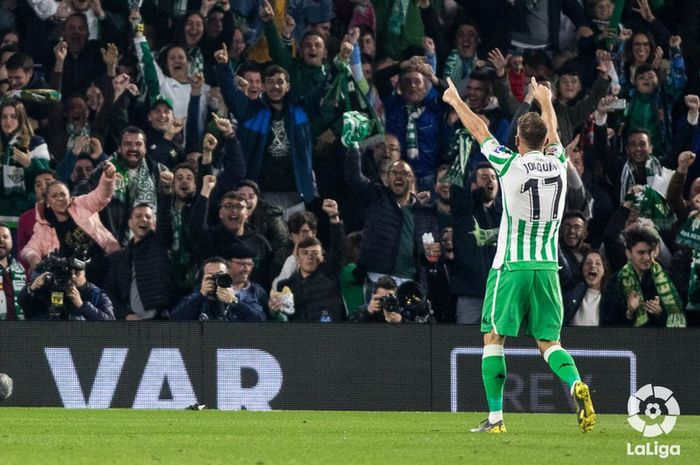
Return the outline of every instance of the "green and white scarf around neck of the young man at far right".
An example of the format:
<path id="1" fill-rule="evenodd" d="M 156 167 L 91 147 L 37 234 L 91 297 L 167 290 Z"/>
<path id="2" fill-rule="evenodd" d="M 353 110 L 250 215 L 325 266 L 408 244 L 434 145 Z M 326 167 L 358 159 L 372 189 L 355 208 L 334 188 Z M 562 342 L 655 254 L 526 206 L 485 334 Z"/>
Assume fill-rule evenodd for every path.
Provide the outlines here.
<path id="1" fill-rule="evenodd" d="M 683 314 L 683 302 L 681 301 L 676 287 L 671 282 L 668 274 L 656 262 L 651 264 L 651 275 L 654 280 L 656 292 L 659 295 L 659 300 L 664 310 L 666 310 L 666 327 L 667 328 L 685 328 L 685 315 Z M 635 273 L 632 263 L 628 261 L 622 267 L 617 278 L 625 292 L 625 299 L 633 293 L 637 293 L 642 300 L 642 285 L 639 282 L 637 273 Z M 639 305 L 634 314 L 633 325 L 635 327 L 644 326 L 649 322 L 649 315 L 644 310 L 644 304 Z"/>

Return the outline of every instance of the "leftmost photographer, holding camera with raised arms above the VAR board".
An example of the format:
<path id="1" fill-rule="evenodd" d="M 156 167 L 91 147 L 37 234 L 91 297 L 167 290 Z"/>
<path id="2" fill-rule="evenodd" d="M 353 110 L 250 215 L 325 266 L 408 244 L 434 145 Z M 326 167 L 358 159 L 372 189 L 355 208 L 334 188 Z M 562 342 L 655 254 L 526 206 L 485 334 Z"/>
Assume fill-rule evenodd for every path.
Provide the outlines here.
<path id="1" fill-rule="evenodd" d="M 85 278 L 85 262 L 49 255 L 39 270 L 19 294 L 28 320 L 114 320 L 107 294 Z"/>

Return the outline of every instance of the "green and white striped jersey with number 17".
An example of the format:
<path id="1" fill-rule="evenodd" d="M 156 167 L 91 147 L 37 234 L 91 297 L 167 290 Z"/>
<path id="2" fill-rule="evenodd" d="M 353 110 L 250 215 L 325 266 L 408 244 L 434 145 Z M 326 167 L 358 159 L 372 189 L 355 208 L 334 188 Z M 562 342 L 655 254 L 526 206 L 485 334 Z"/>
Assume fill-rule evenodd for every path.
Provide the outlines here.
<path id="1" fill-rule="evenodd" d="M 493 267 L 556 270 L 566 201 L 564 147 L 520 155 L 489 138 L 481 152 L 501 178 L 503 216 Z"/>

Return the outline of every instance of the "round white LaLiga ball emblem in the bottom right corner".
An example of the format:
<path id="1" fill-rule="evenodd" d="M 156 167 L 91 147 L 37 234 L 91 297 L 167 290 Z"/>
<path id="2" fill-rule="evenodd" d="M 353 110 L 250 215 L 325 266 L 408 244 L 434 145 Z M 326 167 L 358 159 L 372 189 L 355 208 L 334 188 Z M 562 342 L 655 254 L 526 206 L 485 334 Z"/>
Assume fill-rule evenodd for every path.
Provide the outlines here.
<path id="1" fill-rule="evenodd" d="M 632 428 L 645 438 L 655 438 L 673 430 L 681 410 L 670 389 L 647 384 L 630 396 L 627 413 Z"/>

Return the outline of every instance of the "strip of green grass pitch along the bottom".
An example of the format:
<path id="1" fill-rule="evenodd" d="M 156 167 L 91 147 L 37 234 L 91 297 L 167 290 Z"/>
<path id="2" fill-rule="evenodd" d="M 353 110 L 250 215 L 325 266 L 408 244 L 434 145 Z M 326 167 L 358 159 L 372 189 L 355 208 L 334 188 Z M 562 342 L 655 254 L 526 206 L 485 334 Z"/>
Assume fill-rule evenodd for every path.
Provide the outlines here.
<path id="1" fill-rule="evenodd" d="M 0 409 L 0 464 L 700 463 L 700 417 L 680 416 L 659 444 L 680 457 L 634 457 L 647 440 L 624 415 L 591 433 L 572 414 L 507 414 L 507 434 L 470 434 L 484 414 Z"/>

